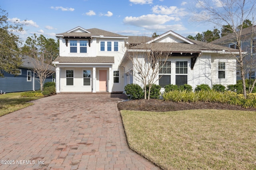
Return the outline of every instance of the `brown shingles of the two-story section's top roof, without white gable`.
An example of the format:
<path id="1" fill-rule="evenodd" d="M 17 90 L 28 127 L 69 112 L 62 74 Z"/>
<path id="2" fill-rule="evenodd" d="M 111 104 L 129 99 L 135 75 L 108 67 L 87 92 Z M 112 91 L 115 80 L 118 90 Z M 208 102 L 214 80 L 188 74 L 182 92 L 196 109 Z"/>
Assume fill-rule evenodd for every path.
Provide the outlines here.
<path id="1" fill-rule="evenodd" d="M 124 35 L 119 35 L 116 33 L 112 33 L 109 31 L 104 31 L 102 29 L 98 28 L 92 28 L 92 29 L 86 29 L 90 33 L 85 33 L 85 32 L 65 32 L 65 33 L 59 33 L 58 35 L 63 35 L 64 37 L 91 37 L 92 35 L 103 35 L 105 37 L 126 37 Z"/>

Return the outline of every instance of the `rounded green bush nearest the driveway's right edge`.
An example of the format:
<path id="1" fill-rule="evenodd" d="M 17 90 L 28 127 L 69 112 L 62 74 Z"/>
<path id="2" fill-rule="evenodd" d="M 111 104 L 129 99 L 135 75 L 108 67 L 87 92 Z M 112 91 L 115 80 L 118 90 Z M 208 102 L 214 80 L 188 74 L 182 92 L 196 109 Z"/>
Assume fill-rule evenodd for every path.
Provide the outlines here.
<path id="1" fill-rule="evenodd" d="M 144 91 L 138 84 L 127 84 L 124 90 L 129 99 L 142 99 L 144 96 Z"/>

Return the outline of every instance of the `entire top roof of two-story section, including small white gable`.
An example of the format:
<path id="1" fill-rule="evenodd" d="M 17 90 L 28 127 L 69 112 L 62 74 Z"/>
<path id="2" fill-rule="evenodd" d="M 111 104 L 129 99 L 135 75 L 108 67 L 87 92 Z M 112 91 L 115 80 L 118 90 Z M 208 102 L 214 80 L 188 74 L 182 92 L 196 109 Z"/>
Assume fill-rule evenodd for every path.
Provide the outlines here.
<path id="1" fill-rule="evenodd" d="M 80 30 L 80 31 L 76 31 Z M 124 37 L 126 36 L 104 31 L 98 28 L 84 29 L 82 27 L 76 27 L 70 31 L 56 34 L 56 37 Z"/>

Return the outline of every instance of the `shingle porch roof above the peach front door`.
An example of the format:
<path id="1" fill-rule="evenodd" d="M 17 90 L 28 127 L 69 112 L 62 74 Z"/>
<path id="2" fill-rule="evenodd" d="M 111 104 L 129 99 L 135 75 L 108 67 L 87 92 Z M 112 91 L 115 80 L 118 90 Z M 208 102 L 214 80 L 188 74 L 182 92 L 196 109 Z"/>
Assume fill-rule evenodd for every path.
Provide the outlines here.
<path id="1" fill-rule="evenodd" d="M 114 63 L 114 56 L 97 57 L 57 57 L 54 62 L 59 63 Z"/>

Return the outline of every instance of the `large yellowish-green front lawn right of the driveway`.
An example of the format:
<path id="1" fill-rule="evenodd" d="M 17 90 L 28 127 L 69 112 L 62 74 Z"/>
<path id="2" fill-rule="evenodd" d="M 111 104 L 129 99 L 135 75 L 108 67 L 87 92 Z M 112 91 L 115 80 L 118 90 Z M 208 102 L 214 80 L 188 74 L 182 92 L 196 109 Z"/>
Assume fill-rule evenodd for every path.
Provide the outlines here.
<path id="1" fill-rule="evenodd" d="M 120 112 L 129 147 L 162 169 L 256 169 L 256 112 Z"/>

